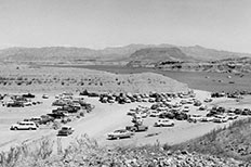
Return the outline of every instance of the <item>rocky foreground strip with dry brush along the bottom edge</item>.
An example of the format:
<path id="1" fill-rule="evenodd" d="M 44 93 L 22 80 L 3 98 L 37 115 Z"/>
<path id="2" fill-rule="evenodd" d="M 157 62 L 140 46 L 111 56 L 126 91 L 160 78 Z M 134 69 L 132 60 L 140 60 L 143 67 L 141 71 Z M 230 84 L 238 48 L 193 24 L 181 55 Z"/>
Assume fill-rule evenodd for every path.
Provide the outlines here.
<path id="1" fill-rule="evenodd" d="M 37 146 L 37 149 L 35 149 Z M 39 144 L 23 145 L 0 154 L 2 167 L 238 167 L 247 163 L 233 158 L 213 155 L 188 153 L 187 151 L 170 152 L 158 143 L 141 147 L 128 146 L 100 147 L 87 137 L 77 139 L 65 151 L 57 142 L 57 155 L 53 154 L 53 143 L 43 139 Z"/>

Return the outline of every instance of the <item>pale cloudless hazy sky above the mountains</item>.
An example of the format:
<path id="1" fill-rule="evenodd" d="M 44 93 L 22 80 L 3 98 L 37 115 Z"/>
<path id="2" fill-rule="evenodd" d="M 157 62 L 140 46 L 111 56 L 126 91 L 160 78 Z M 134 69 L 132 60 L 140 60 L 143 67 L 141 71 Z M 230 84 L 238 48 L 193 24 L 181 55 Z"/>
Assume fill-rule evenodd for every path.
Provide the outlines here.
<path id="1" fill-rule="evenodd" d="M 251 53 L 251 0 L 0 0 L 0 48 L 130 43 Z"/>

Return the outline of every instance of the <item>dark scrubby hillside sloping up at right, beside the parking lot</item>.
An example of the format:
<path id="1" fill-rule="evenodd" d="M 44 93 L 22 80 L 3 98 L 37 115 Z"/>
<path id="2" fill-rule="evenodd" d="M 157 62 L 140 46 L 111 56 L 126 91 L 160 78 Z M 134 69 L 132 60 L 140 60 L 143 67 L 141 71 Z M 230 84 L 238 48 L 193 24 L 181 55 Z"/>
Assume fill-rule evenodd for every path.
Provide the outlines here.
<path id="1" fill-rule="evenodd" d="M 191 141 L 174 145 L 174 150 L 186 149 L 189 152 L 233 157 L 251 162 L 251 118 L 233 123 Z"/>

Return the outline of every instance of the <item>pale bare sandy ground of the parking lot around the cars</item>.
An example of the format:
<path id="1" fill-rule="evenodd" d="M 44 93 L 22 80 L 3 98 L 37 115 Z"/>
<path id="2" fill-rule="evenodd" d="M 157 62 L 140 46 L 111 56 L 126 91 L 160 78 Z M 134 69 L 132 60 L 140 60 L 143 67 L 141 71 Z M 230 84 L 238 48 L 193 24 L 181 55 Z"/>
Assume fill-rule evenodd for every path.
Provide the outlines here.
<path id="1" fill-rule="evenodd" d="M 32 141 L 40 139 L 42 137 L 49 136 L 54 140 L 61 138 L 63 146 L 67 146 L 69 142 L 75 140 L 75 138 L 87 133 L 90 138 L 97 140 L 101 145 L 143 145 L 143 144 L 155 144 L 155 143 L 168 143 L 174 144 L 184 142 L 186 140 L 202 136 L 214 128 L 223 127 L 229 124 L 214 124 L 214 123 L 197 123 L 190 124 L 187 121 L 174 120 L 174 127 L 154 127 L 154 123 L 158 118 L 147 117 L 144 120 L 144 125 L 148 126 L 149 129 L 146 132 L 138 132 L 131 139 L 121 140 L 107 140 L 107 133 L 114 130 L 124 128 L 131 124 L 131 117 L 127 116 L 127 112 L 130 108 L 135 108 L 137 105 L 150 106 L 151 103 L 130 103 L 130 104 L 102 104 L 98 102 L 97 98 L 85 98 L 85 101 L 95 105 L 92 113 L 85 114 L 84 117 L 77 119 L 76 121 L 69 123 L 68 125 L 75 128 L 74 134 L 69 137 L 56 137 L 57 131 L 49 129 L 45 126 L 41 126 L 37 131 L 11 131 L 10 126 L 24 118 L 30 118 L 32 116 L 40 116 L 42 114 L 51 113 L 53 108 L 51 103 L 55 100 L 54 95 L 56 93 L 50 94 L 50 99 L 41 99 L 42 94 L 36 94 L 42 104 L 36 106 L 27 106 L 24 108 L 6 108 L 0 106 L 1 117 L 0 117 L 0 151 L 9 150 L 15 144 L 21 144 L 22 142 Z M 196 90 L 197 99 L 203 101 L 209 97 L 209 92 Z M 240 102 L 234 100 L 227 100 L 225 98 L 216 99 L 213 103 L 226 105 L 226 106 L 237 106 L 245 103 L 246 107 L 250 107 L 250 98 L 247 98 Z M 213 105 L 213 103 L 211 105 Z M 187 104 L 190 107 L 190 114 L 201 114 L 206 115 L 206 112 L 197 111 L 198 107 Z M 147 137 L 147 134 L 158 133 L 153 137 Z"/>

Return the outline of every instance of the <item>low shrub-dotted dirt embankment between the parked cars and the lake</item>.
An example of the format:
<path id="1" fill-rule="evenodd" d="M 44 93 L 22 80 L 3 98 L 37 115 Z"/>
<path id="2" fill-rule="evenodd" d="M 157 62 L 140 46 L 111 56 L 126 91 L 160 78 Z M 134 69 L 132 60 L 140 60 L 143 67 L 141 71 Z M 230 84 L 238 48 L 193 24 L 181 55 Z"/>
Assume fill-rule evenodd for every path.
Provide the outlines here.
<path id="1" fill-rule="evenodd" d="M 154 73 L 110 74 L 80 68 L 31 67 L 3 65 L 0 67 L 0 89 L 16 92 L 97 91 L 148 93 L 187 91 L 187 85 Z"/>

